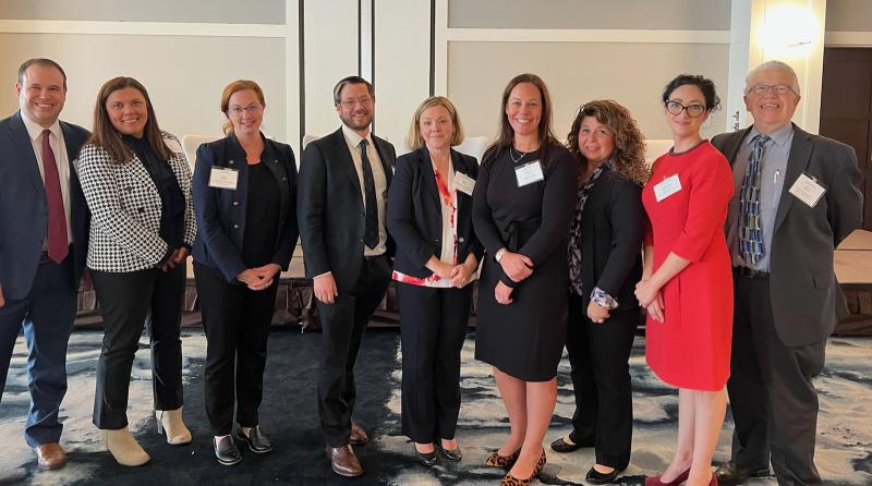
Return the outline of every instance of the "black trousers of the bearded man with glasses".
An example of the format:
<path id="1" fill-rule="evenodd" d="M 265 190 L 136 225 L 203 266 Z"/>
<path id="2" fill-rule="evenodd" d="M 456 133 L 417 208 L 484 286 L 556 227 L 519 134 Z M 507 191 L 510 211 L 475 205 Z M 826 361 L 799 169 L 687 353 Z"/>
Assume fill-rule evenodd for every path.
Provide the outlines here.
<path id="1" fill-rule="evenodd" d="M 354 411 L 354 362 L 370 321 L 390 281 L 386 256 L 364 260 L 354 287 L 339 291 L 335 303 L 317 303 L 322 325 L 318 416 L 330 447 L 349 444 Z"/>

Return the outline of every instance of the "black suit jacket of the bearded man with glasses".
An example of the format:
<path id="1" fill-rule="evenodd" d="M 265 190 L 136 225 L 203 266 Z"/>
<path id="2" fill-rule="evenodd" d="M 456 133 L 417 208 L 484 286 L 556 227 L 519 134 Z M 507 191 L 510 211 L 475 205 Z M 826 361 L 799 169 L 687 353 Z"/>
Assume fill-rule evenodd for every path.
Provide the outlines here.
<path id="1" fill-rule="evenodd" d="M 397 153 L 387 141 L 375 135 L 372 138 L 389 190 Z M 341 127 L 306 146 L 299 181 L 296 219 L 306 278 L 332 272 L 337 289 L 348 292 L 358 281 L 363 265 L 366 211 L 361 182 Z M 390 235 L 387 248 L 387 256 L 393 256 Z"/>

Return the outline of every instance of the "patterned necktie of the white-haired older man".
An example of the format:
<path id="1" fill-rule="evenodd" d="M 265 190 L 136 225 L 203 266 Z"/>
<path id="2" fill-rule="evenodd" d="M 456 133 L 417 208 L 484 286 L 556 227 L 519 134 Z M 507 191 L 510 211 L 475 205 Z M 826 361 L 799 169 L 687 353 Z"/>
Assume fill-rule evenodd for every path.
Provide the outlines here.
<path id="1" fill-rule="evenodd" d="M 763 147 L 770 137 L 758 135 L 751 146 L 748 167 L 742 178 L 739 198 L 739 253 L 749 266 L 763 257 L 763 230 L 760 227 L 760 171 L 763 166 Z"/>

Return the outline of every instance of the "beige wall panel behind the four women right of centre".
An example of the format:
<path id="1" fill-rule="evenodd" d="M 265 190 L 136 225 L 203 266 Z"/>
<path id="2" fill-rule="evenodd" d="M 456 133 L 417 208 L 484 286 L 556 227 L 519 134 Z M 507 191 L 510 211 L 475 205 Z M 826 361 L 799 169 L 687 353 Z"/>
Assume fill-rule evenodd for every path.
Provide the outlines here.
<path id="1" fill-rule="evenodd" d="M 726 88 L 729 46 L 582 42 L 451 42 L 448 96 L 469 135 L 493 136 L 500 94 L 516 74 L 540 74 L 554 98 L 555 132 L 566 138 L 578 107 L 613 98 L 632 111 L 649 138 L 671 137 L 663 119 L 663 87 L 682 72 L 703 74 Z M 609 60 L 616 60 L 610 62 Z M 716 112 L 708 134 L 723 131 Z"/>

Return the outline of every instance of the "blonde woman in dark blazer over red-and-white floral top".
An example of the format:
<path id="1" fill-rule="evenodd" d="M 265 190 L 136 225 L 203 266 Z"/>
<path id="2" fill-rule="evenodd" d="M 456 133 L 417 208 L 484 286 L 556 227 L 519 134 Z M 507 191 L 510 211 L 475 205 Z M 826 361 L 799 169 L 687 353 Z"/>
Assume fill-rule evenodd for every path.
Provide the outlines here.
<path id="1" fill-rule="evenodd" d="M 415 110 L 388 193 L 387 227 L 397 243 L 393 280 L 402 331 L 402 432 L 419 460 L 436 463 L 434 442 L 460 461 L 460 349 L 483 248 L 472 230 L 474 157 L 451 148 L 463 141 L 447 98 Z"/>

